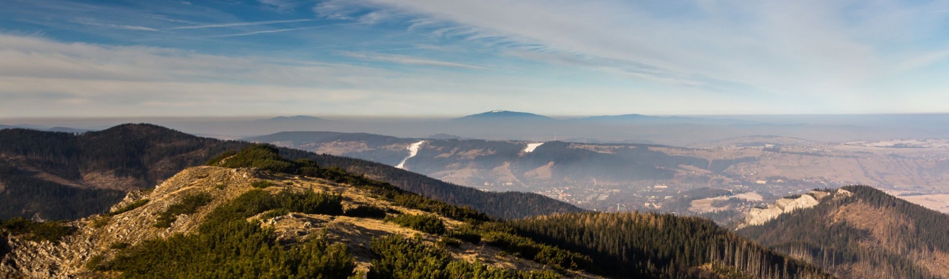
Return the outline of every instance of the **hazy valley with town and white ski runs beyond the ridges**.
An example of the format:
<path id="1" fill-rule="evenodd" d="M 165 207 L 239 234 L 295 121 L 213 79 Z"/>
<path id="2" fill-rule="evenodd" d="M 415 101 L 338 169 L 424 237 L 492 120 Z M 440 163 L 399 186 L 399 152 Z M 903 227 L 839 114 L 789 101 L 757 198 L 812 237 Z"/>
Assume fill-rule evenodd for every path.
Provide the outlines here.
<path id="1" fill-rule="evenodd" d="M 308 133 L 308 134 L 307 134 Z M 602 212 L 660 211 L 740 215 L 754 205 L 814 188 L 862 184 L 912 191 L 926 201 L 949 193 L 949 140 L 819 142 L 748 136 L 673 147 L 655 144 L 516 140 L 424 140 L 326 132 L 280 133 L 245 140 L 400 166 L 483 191 L 547 195 Z M 309 135 L 309 136 L 307 136 Z M 308 138 L 307 138 L 308 137 Z M 420 142 L 420 143 L 419 143 Z M 418 143 L 419 145 L 411 145 Z M 540 143 L 540 144 L 538 144 Z M 407 148 L 417 146 L 416 155 Z M 530 152 L 529 152 L 530 151 Z M 406 158 L 397 161 L 397 158 Z M 687 196 L 696 189 L 754 195 L 712 207 L 723 196 Z M 924 199 L 924 198 L 930 199 Z M 686 198 L 682 205 L 680 199 Z M 691 200 L 698 201 L 692 206 Z M 728 203 L 719 201 L 722 204 Z M 944 206 L 944 205 L 943 205 Z M 717 213 L 722 215 L 725 213 Z M 708 215 L 722 220 L 715 215 Z"/>

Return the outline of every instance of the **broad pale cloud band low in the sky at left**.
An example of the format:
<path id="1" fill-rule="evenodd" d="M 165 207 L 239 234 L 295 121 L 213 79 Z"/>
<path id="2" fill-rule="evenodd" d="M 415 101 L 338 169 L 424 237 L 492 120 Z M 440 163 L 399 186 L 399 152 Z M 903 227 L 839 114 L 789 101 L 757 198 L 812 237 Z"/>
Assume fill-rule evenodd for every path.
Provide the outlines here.
<path id="1" fill-rule="evenodd" d="M 391 58 L 410 64 L 471 66 Z M 391 114 L 406 108 L 392 103 L 435 101 L 456 109 L 454 99 L 445 94 L 500 92 L 523 82 L 501 78 L 493 84 L 469 84 L 463 75 L 416 72 L 209 55 L 167 47 L 65 43 L 0 33 L 0 98 L 8 101 L 0 102 L 0 118 L 239 115 L 313 109 Z M 419 83 L 426 88 L 418 88 Z"/>

